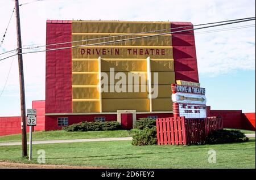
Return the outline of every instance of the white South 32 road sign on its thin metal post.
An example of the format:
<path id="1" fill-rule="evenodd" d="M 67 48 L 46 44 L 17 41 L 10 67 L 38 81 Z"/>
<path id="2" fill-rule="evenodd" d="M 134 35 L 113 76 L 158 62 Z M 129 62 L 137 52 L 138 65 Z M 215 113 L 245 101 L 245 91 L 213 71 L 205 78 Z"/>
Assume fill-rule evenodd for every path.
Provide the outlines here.
<path id="1" fill-rule="evenodd" d="M 27 109 L 27 126 L 30 126 L 30 153 L 28 160 L 32 160 L 32 126 L 36 126 L 36 109 Z"/>

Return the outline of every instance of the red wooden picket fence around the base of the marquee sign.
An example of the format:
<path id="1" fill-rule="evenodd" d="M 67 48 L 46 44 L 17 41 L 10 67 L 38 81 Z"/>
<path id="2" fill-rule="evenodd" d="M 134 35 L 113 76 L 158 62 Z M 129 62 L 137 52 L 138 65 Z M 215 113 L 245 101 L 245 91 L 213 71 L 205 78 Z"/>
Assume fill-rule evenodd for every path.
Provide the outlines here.
<path id="1" fill-rule="evenodd" d="M 223 128 L 221 117 L 186 119 L 171 117 L 156 119 L 158 145 L 197 144 L 213 130 Z"/>

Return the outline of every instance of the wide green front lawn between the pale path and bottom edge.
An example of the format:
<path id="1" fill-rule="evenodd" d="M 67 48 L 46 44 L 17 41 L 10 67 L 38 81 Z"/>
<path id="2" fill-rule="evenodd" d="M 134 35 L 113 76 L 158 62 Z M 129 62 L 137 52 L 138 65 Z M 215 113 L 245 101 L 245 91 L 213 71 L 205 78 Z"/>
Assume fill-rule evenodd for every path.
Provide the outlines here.
<path id="1" fill-rule="evenodd" d="M 102 168 L 254 168 L 255 138 L 246 143 L 217 145 L 133 146 L 130 140 L 33 145 L 33 160 L 22 159 L 21 146 L 1 146 L 0 161 L 37 163 L 37 151 L 46 151 L 46 164 Z M 216 151 L 216 164 L 208 151 Z"/>

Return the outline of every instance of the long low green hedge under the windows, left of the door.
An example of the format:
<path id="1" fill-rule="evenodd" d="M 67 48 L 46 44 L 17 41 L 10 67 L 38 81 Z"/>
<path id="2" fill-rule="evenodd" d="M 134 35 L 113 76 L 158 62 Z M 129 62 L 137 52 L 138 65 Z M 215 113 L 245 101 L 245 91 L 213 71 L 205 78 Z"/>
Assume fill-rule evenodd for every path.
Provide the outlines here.
<path id="1" fill-rule="evenodd" d="M 65 131 L 107 131 L 107 130 L 118 130 L 121 128 L 117 121 L 106 121 L 106 122 L 80 122 L 62 129 Z"/>

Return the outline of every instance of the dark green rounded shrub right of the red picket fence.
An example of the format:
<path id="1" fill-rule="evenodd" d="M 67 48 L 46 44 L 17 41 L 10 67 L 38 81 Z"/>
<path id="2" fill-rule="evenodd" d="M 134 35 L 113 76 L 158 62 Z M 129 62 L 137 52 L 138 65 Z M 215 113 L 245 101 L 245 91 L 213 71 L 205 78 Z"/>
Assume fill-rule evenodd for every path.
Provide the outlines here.
<path id="1" fill-rule="evenodd" d="M 216 130 L 210 132 L 205 138 L 205 144 L 223 144 L 223 143 L 240 143 L 247 142 L 249 138 L 238 130 Z"/>

